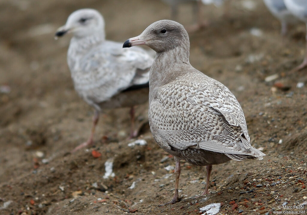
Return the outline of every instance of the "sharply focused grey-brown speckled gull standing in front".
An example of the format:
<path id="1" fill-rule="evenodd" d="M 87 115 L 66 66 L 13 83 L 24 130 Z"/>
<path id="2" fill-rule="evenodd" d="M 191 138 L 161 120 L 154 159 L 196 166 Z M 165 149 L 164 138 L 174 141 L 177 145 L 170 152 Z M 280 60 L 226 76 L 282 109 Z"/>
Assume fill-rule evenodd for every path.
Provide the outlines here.
<path id="1" fill-rule="evenodd" d="M 222 83 L 189 63 L 188 33 L 175 21 L 148 26 L 123 47 L 146 45 L 157 52 L 149 76 L 149 124 L 153 138 L 176 161 L 175 194 L 166 204 L 180 201 L 180 160 L 207 166 L 208 194 L 213 164 L 230 159 L 262 159 L 253 148 L 242 108 Z"/>

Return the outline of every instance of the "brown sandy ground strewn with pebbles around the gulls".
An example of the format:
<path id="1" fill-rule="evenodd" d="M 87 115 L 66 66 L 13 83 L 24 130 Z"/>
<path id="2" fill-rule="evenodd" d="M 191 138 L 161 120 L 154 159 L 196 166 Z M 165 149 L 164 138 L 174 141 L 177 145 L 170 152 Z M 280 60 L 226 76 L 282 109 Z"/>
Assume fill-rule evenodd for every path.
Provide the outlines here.
<path id="1" fill-rule="evenodd" d="M 125 41 L 153 21 L 170 19 L 169 6 L 158 0 L 2 0 L 0 214 L 201 214 L 211 203 L 221 204 L 219 214 L 267 215 L 300 204 L 305 208 L 295 210 L 306 212 L 307 70 L 290 72 L 303 59 L 305 26 L 282 37 L 262 1 L 252 1 L 250 10 L 246 2 L 203 7 L 209 25 L 190 33 L 190 62 L 235 94 L 252 145 L 266 156 L 213 166 L 210 194 L 200 197 L 205 168 L 182 162 L 183 200 L 158 207 L 173 196 L 175 162 L 152 138 L 148 104 L 137 108 L 137 139 L 146 145 L 128 146 L 135 141 L 128 139 L 128 109 L 106 110 L 95 146 L 70 153 L 87 139 L 93 110 L 73 89 L 70 36 L 55 41 L 53 35 L 71 12 L 91 7 L 103 14 L 107 38 Z M 191 5 L 180 6 L 177 21 L 193 24 Z M 94 158 L 92 150 L 101 156 Z M 114 172 L 107 179 L 106 161 Z"/>

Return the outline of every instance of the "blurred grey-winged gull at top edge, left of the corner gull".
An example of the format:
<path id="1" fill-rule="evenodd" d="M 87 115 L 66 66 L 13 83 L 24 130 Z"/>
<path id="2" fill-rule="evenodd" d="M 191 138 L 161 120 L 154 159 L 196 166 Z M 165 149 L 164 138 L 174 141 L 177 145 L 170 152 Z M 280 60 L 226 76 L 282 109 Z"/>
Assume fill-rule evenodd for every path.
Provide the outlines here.
<path id="1" fill-rule="evenodd" d="M 297 18 L 286 8 L 284 0 L 263 0 L 263 2 L 270 12 L 279 19 L 282 25 L 281 33 L 285 35 L 287 33 L 287 25 L 295 23 Z"/>

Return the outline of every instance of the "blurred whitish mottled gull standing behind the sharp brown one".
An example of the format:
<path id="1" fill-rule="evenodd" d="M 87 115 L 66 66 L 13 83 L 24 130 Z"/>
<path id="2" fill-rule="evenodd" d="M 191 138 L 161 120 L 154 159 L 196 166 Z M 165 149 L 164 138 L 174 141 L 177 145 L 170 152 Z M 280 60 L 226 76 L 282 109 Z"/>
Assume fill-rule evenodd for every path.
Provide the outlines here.
<path id="1" fill-rule="evenodd" d="M 133 106 L 148 101 L 153 58 L 142 48 L 124 50 L 122 43 L 106 40 L 103 17 L 93 9 L 73 12 L 56 36 L 66 33 L 73 34 L 67 61 L 74 87 L 95 108 L 91 135 L 75 150 L 93 143 L 99 112 L 106 108 L 131 107 L 131 136 L 135 136 Z"/>

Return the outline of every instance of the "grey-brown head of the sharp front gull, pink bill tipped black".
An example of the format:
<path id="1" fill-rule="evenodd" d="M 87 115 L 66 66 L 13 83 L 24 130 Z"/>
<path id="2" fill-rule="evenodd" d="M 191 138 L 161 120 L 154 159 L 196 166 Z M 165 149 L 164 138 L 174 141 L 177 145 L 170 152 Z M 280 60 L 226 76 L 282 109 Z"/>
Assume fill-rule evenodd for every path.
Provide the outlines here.
<path id="1" fill-rule="evenodd" d="M 171 20 L 160 20 L 149 25 L 139 36 L 126 40 L 123 48 L 146 45 L 157 53 L 178 46 L 190 48 L 189 36 L 183 25 Z"/>

